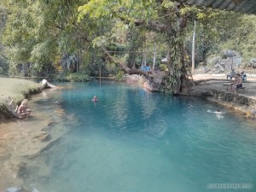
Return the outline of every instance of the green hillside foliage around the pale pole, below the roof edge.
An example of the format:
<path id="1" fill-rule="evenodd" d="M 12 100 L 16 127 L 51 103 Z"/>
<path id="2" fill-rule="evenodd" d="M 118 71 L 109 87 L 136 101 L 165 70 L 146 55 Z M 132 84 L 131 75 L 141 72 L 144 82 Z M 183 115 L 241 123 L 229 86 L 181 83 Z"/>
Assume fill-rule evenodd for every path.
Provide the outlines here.
<path id="1" fill-rule="evenodd" d="M 208 57 L 221 56 L 225 49 L 236 50 L 244 61 L 255 55 L 253 49 L 256 32 L 255 16 L 241 15 L 217 9 L 198 9 L 193 19 L 196 27 L 196 61 L 207 61 Z M 187 28 L 185 47 L 191 55 L 192 23 Z"/>

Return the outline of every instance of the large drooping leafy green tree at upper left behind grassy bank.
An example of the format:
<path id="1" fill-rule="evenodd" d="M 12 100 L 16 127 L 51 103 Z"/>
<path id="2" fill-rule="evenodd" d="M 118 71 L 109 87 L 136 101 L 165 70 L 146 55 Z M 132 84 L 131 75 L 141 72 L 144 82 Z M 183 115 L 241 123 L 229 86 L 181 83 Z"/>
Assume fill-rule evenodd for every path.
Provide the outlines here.
<path id="1" fill-rule="evenodd" d="M 48 67 L 62 67 L 78 71 L 85 50 L 90 49 L 92 28 L 98 21 L 77 21 L 78 7 L 87 1 L 17 1 L 5 27 L 3 42 L 9 49 L 9 59 L 16 67 L 22 64 L 31 71 L 40 72 Z M 65 56 L 63 56 L 65 55 Z M 62 57 L 62 58 L 61 58 Z M 76 59 L 74 59 L 76 57 Z M 76 62 L 73 62 L 76 61 Z"/>

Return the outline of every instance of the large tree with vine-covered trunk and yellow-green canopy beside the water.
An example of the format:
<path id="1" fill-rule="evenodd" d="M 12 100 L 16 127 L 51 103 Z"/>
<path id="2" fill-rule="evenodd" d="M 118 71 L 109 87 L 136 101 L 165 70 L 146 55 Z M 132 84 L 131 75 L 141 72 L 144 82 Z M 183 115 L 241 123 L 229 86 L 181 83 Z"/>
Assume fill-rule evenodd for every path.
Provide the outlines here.
<path id="1" fill-rule="evenodd" d="M 186 80 L 183 62 L 183 30 L 189 18 L 188 13 L 189 9 L 182 4 L 166 0 L 91 0 L 79 7 L 79 20 L 84 16 L 99 20 L 121 20 L 128 26 L 139 26 L 144 30 L 160 33 L 165 37 L 167 45 L 168 73 L 165 82 L 168 88 L 178 93 Z M 115 62 L 105 47 L 102 46 L 102 50 L 108 61 Z M 141 73 L 148 76 L 148 73 L 137 69 L 134 63 L 116 63 L 127 73 Z M 160 88 L 160 84 L 158 86 Z"/>

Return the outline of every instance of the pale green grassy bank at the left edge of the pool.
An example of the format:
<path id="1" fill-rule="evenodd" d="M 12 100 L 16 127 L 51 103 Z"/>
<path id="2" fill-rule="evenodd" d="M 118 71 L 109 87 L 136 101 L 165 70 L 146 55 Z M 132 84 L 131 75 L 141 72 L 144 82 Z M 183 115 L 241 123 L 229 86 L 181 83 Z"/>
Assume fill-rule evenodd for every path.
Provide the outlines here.
<path id="1" fill-rule="evenodd" d="M 26 79 L 0 78 L 0 113 L 5 113 L 4 103 L 10 96 L 19 104 L 27 96 L 41 90 L 41 84 Z"/>

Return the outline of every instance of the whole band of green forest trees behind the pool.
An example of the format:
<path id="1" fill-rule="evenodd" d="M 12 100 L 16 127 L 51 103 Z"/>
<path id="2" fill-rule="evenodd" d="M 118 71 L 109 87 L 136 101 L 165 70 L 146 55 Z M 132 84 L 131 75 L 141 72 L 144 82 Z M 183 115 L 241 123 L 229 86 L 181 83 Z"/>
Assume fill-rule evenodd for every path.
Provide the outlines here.
<path id="1" fill-rule="evenodd" d="M 240 55 L 242 65 L 253 67 L 255 33 L 254 15 L 168 0 L 2 0 L 0 75 L 120 79 L 125 67 L 147 65 L 172 75 L 177 73 L 170 67 L 175 59 L 172 65 L 162 62 L 168 55 L 179 57 L 177 62 L 186 67 L 193 67 L 195 60 L 199 67 L 212 65 L 209 61 L 227 50 Z M 172 49 L 175 44 L 181 46 Z M 176 53 L 180 47 L 182 55 Z"/>

